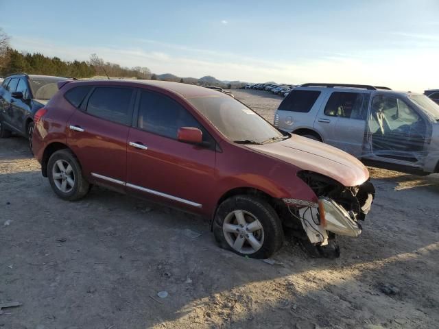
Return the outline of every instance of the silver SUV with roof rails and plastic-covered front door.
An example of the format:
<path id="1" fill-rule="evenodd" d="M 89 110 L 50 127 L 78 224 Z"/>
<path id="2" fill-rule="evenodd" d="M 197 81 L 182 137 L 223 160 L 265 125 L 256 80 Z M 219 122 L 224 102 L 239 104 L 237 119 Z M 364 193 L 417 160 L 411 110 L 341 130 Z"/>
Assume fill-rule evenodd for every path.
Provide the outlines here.
<path id="1" fill-rule="evenodd" d="M 439 172 L 439 106 L 425 95 L 355 84 L 302 84 L 274 125 L 338 147 L 368 164 Z"/>

